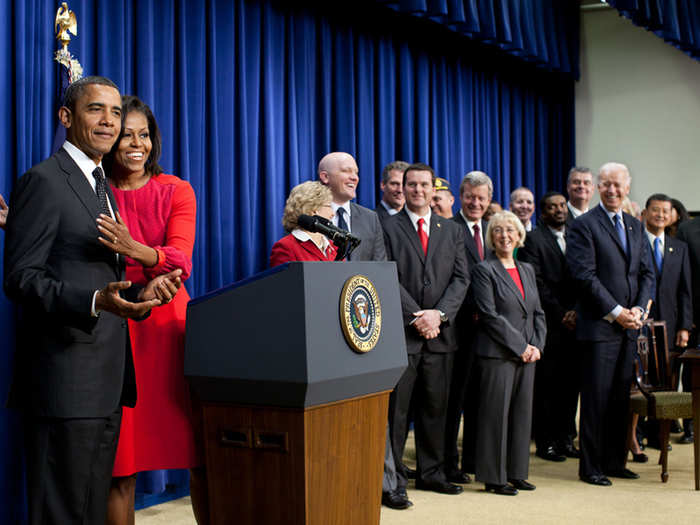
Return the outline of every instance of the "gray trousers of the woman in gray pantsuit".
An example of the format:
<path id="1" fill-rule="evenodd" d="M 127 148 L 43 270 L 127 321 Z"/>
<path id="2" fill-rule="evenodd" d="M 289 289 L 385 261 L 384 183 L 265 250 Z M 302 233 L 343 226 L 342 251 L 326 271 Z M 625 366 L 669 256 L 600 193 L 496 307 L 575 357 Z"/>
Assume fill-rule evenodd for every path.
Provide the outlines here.
<path id="1" fill-rule="evenodd" d="M 476 479 L 505 485 L 527 479 L 535 365 L 479 357 L 481 397 L 476 436 Z"/>

